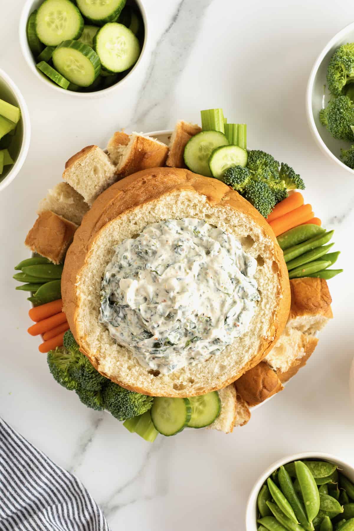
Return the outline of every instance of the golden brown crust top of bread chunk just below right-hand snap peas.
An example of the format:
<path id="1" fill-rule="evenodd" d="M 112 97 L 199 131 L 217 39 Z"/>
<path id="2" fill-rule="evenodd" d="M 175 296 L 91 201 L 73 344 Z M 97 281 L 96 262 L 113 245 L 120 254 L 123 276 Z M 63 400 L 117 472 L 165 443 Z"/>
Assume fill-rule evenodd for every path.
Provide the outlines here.
<path id="1" fill-rule="evenodd" d="M 290 280 L 291 308 L 289 320 L 304 315 L 333 318 L 332 297 L 324 278 L 293 278 Z"/>

